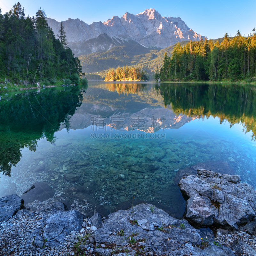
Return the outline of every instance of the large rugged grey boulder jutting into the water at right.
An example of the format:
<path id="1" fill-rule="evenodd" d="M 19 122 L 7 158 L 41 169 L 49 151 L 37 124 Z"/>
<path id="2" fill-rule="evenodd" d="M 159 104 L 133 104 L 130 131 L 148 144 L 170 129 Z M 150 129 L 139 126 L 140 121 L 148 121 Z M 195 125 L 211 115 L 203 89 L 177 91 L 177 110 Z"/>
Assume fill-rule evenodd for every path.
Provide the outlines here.
<path id="1" fill-rule="evenodd" d="M 189 197 L 186 217 L 201 225 L 213 222 L 238 229 L 254 220 L 256 193 L 239 175 L 198 170 L 196 175 L 181 178 L 179 187 Z"/>

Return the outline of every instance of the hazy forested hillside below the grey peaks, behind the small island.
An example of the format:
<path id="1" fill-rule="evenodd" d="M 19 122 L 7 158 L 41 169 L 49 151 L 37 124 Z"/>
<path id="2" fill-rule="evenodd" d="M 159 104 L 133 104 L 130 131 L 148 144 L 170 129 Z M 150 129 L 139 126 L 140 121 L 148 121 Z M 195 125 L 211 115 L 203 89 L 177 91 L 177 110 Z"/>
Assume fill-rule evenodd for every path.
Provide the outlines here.
<path id="1" fill-rule="evenodd" d="M 100 37 L 103 38 L 104 36 L 100 35 L 97 39 L 90 39 L 89 41 L 91 44 L 97 44 Z M 110 39 L 108 36 L 105 36 L 104 40 L 100 41 L 106 41 L 107 38 Z M 215 43 L 217 40 L 221 42 L 223 38 L 214 39 L 212 42 Z M 180 45 L 183 46 L 188 42 L 189 41 L 181 41 Z M 111 40 L 109 43 L 111 43 Z M 124 43 L 122 46 L 113 47 L 108 51 L 87 53 L 88 55 L 80 55 L 78 58 L 81 61 L 83 72 L 87 73 L 87 78 L 89 80 L 96 80 L 96 78 L 90 78 L 88 73 L 91 73 L 91 75 L 95 74 L 97 76 L 105 77 L 109 69 L 111 70 L 113 68 L 115 70 L 118 66 L 121 67 L 126 65 L 129 68 L 132 66 L 135 68 L 140 67 L 147 72 L 149 79 L 154 79 L 156 67 L 162 66 L 164 52 L 166 52 L 168 56 L 172 56 L 173 47 L 174 45 L 164 49 L 153 49 L 146 48 L 140 44 L 129 41 Z M 73 46 L 73 48 L 77 47 Z"/>

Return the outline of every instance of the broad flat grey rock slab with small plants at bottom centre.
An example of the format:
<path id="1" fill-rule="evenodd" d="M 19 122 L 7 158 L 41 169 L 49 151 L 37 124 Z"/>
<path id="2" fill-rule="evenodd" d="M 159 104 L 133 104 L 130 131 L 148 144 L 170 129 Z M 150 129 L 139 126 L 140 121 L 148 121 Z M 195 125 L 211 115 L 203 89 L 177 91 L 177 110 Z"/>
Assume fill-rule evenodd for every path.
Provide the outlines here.
<path id="1" fill-rule="evenodd" d="M 152 207 L 152 204 L 138 204 L 133 207 L 132 214 L 131 209 L 119 210 L 109 214 L 108 219 L 102 224 L 102 228 L 95 230 L 95 242 L 124 246 L 130 244 L 131 235 L 133 234 L 133 239 L 135 241 L 139 240 L 146 252 L 164 250 L 164 255 L 234 256 L 234 252 L 225 246 L 218 248 L 212 246 L 211 249 L 209 248 L 210 250 L 197 248 L 201 244 L 201 236 L 195 228 L 189 225 L 187 220 L 172 218 L 156 207 L 152 211 Z M 136 220 L 138 224 L 133 223 L 132 225 L 130 220 Z M 181 223 L 184 224 L 184 228 L 180 228 Z M 156 229 L 161 227 L 164 228 L 165 232 Z M 113 232 L 117 234 L 121 229 L 124 231 L 124 236 L 113 235 Z M 181 246 L 183 243 L 184 246 Z M 113 253 L 113 251 L 106 252 L 104 250 L 98 248 L 95 249 L 95 252 L 101 253 L 100 255 L 111 255 Z M 158 254 L 154 253 L 154 255 Z"/>

